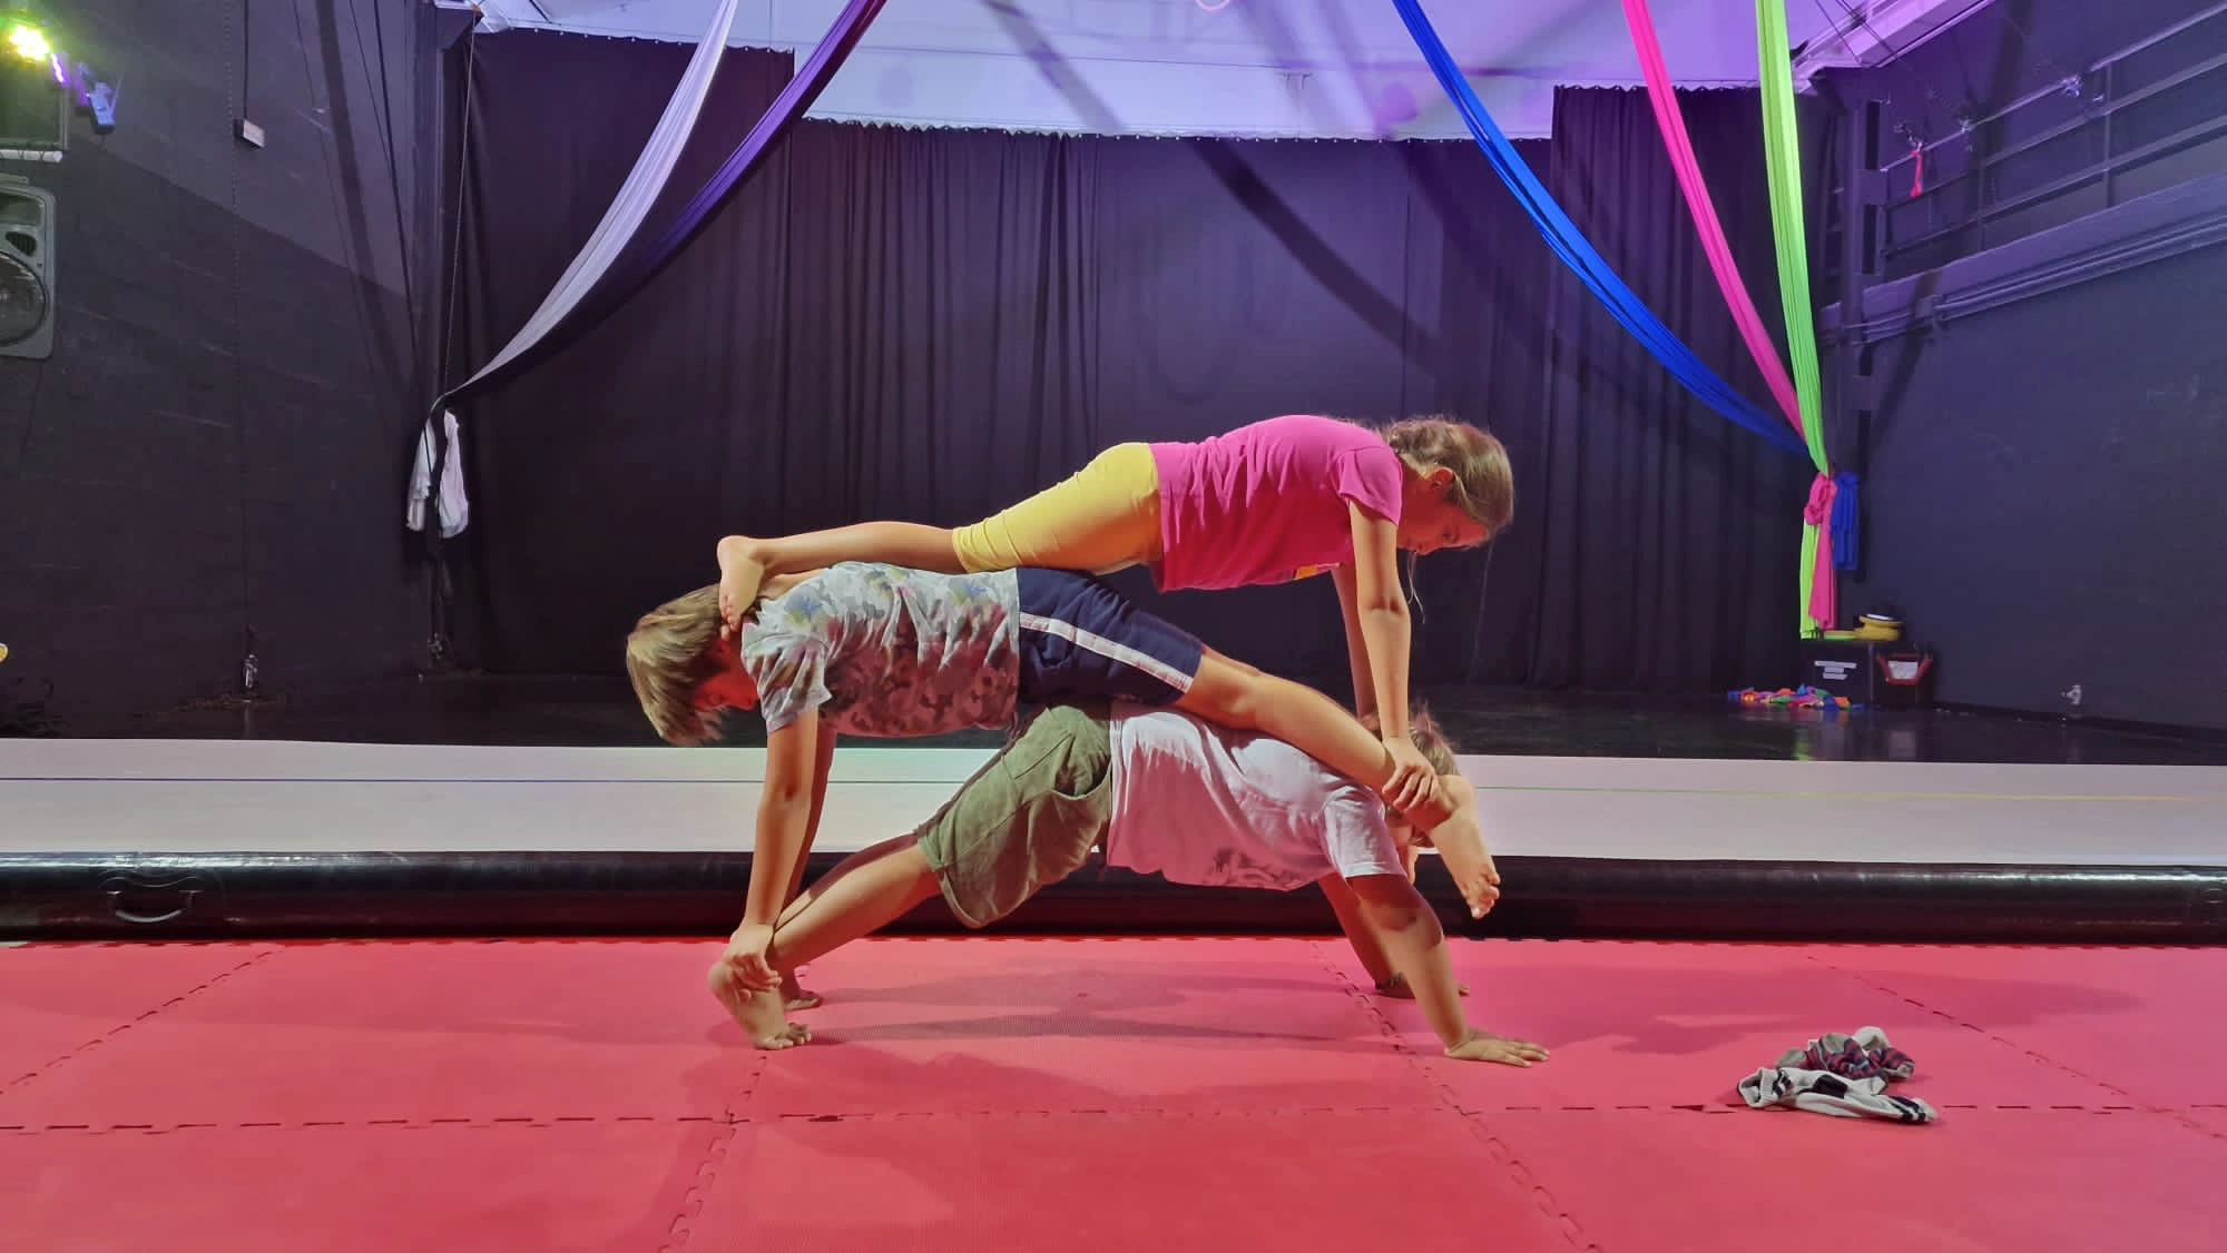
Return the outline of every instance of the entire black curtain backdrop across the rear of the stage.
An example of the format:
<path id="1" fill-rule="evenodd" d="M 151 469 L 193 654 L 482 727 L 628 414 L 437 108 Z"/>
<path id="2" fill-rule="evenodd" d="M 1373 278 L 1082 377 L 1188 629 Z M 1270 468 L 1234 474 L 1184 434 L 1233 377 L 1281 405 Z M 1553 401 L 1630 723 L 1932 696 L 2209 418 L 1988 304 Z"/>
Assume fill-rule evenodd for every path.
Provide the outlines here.
<path id="1" fill-rule="evenodd" d="M 519 205 L 490 196 L 465 223 L 481 260 L 461 305 L 481 356 L 572 256 L 681 58 L 514 40 L 479 40 L 481 85 L 501 78 L 514 120 L 477 118 L 474 194 L 517 189 L 501 198 Z M 552 42 L 563 78 L 543 62 Z M 521 134 L 590 91 L 604 138 Z M 1704 165 L 1768 280 L 1755 98 L 1695 107 Z M 1574 138 L 1523 145 L 1525 160 L 1737 376 L 1646 98 L 1566 93 L 1563 114 Z M 1465 142 L 806 122 L 619 316 L 470 405 L 472 654 L 490 670 L 617 672 L 632 619 L 708 583 L 730 530 L 953 525 L 1125 438 L 1445 410 L 1508 441 L 1519 521 L 1490 550 L 1419 565 L 1419 681 L 1777 683 L 1806 476 L 1746 447 L 1563 287 Z M 1345 688 L 1327 579 L 1174 596 L 1140 572 L 1116 581 L 1218 648 Z"/>

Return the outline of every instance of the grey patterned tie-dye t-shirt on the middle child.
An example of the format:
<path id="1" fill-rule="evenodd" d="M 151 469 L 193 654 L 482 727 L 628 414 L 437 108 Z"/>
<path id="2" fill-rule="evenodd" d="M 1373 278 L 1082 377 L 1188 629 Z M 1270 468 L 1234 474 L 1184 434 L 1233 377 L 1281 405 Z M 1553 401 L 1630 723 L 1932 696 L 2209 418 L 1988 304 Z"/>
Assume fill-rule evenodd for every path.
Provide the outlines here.
<path id="1" fill-rule="evenodd" d="M 742 623 L 742 668 L 766 730 L 808 710 L 846 734 L 998 728 L 1020 663 L 1016 574 L 931 574 L 846 561 L 764 601 Z"/>

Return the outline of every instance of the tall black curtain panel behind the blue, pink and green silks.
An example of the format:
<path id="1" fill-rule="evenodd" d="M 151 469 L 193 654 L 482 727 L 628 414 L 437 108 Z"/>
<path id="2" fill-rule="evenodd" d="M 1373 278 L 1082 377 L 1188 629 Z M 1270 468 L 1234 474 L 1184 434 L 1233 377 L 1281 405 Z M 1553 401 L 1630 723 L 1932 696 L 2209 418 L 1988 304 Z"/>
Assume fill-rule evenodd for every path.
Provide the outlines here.
<path id="1" fill-rule="evenodd" d="M 1784 361 L 1755 91 L 1684 91 L 1695 160 Z M 1554 93 L 1546 182 L 1641 300 L 1742 394 L 1775 412 L 1708 269 L 1641 89 Z M 1554 265 L 1543 403 L 1530 450 L 1537 561 L 1521 590 L 1523 681 L 1726 690 L 1795 672 L 1802 505 L 1813 470 L 1693 398 Z M 1532 552 L 1525 545 L 1525 552 Z"/>

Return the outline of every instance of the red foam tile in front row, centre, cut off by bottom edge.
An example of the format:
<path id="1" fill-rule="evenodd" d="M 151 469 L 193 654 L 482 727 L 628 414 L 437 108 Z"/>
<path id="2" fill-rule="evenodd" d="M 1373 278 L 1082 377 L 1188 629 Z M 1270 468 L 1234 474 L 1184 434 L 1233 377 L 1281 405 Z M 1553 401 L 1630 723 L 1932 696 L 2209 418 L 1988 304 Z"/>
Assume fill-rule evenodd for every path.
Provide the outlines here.
<path id="1" fill-rule="evenodd" d="M 693 1251 L 1574 1251 L 1557 1215 L 1445 1111 L 779 1119 L 737 1131 L 693 1222 Z"/>

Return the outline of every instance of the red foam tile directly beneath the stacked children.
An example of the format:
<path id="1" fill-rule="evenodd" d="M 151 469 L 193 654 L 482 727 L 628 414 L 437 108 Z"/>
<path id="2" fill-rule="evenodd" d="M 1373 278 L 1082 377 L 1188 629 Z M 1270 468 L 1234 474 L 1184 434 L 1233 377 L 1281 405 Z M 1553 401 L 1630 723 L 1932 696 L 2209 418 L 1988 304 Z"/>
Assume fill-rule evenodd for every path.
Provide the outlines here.
<path id="1" fill-rule="evenodd" d="M 750 1117 L 1436 1102 L 1305 939 L 873 939 L 804 986 Z"/>

